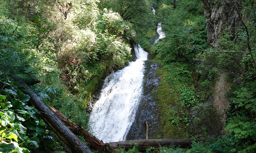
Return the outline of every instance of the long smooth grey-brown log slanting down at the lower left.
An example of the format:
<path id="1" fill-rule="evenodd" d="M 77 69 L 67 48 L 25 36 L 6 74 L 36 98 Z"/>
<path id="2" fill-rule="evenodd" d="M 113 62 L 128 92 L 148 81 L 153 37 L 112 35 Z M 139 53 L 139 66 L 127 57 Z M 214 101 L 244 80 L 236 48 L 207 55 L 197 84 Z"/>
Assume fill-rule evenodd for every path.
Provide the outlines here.
<path id="1" fill-rule="evenodd" d="M 33 92 L 26 83 L 20 78 L 15 77 L 14 81 L 23 85 L 21 87 L 24 93 L 30 96 L 30 103 L 42 113 L 45 122 L 52 130 L 61 138 L 61 140 L 73 151 L 79 153 L 92 153 L 92 151 L 70 131 L 52 111 L 44 104 L 44 102 Z"/>

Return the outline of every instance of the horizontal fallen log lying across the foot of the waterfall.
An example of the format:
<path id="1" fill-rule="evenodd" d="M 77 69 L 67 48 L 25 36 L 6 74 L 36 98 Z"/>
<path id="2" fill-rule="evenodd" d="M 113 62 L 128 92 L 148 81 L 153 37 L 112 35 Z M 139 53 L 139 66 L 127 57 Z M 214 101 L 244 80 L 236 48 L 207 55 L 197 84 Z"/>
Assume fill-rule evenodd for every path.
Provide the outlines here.
<path id="1" fill-rule="evenodd" d="M 199 141 L 206 141 L 207 138 L 199 138 L 196 142 Z M 155 147 L 156 150 L 160 149 L 161 147 L 169 147 L 170 145 L 174 144 L 180 148 L 187 148 L 189 147 L 192 142 L 195 141 L 193 139 L 146 139 L 146 140 L 129 140 L 129 141 L 119 141 L 119 142 L 109 142 L 109 144 L 113 148 L 125 148 L 125 150 L 132 149 L 133 146 L 138 145 L 139 151 L 145 151 L 150 147 Z M 152 149 L 153 150 L 153 149 Z M 151 150 L 151 151 L 152 151 Z"/>

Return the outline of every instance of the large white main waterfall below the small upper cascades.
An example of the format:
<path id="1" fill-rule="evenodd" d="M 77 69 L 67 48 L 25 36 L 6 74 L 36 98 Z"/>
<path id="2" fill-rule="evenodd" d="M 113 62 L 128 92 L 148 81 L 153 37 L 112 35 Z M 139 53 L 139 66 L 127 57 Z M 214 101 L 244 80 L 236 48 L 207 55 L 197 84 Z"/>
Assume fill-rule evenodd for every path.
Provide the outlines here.
<path id="1" fill-rule="evenodd" d="M 92 133 L 104 143 L 124 141 L 135 118 L 148 53 L 140 45 L 134 45 L 134 50 L 138 59 L 105 79 L 92 108 Z"/>

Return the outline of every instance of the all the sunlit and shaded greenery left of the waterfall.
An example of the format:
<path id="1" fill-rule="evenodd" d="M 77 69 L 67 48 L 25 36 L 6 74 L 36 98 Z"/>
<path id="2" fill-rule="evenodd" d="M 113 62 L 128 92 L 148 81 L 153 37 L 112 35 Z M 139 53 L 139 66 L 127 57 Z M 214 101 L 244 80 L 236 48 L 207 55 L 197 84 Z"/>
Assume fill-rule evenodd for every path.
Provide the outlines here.
<path id="1" fill-rule="evenodd" d="M 130 43 L 136 30 L 145 28 L 132 22 L 147 20 L 151 14 L 150 5 L 141 3 L 143 15 L 136 18 L 132 8 L 124 19 L 124 14 L 115 12 L 119 5 L 102 8 L 94 0 L 0 2 L 0 152 L 62 150 L 40 113 L 28 103 L 29 96 L 13 81 L 15 76 L 27 84 L 42 80 L 30 86 L 37 96 L 87 128 L 85 109 L 101 79 L 132 59 Z"/>

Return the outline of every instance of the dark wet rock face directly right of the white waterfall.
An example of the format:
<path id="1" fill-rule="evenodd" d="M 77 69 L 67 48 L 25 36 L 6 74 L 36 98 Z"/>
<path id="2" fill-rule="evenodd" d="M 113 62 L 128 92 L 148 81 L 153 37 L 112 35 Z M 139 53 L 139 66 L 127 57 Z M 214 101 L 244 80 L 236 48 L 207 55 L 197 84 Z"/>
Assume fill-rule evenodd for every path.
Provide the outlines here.
<path id="1" fill-rule="evenodd" d="M 146 123 L 148 121 L 149 135 L 152 137 L 153 133 L 160 130 L 160 116 L 157 112 L 157 100 L 155 99 L 154 92 L 157 90 L 157 86 L 160 83 L 161 77 L 156 76 L 156 70 L 159 68 L 157 63 L 146 63 L 145 77 L 143 81 L 143 97 L 136 113 L 135 121 L 132 123 L 132 127 L 129 130 L 126 140 L 138 140 L 146 139 Z"/>

